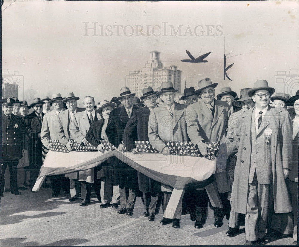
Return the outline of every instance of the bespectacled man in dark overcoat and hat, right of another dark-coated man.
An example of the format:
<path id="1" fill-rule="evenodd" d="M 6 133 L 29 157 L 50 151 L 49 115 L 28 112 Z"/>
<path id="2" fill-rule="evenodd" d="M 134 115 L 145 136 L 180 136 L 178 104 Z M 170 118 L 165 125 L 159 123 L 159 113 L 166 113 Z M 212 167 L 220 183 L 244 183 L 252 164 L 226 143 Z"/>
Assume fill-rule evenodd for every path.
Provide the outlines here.
<path id="1" fill-rule="evenodd" d="M 149 114 L 157 107 L 157 91 L 155 92 L 152 87 L 147 87 L 143 88 L 142 93 L 143 95 L 140 99 L 144 101 L 145 107 L 133 112 L 133 116 L 126 124 L 123 136 L 125 146 L 133 154 L 137 153 L 134 141 L 149 141 L 147 134 Z M 139 190 L 143 192 L 143 201 L 145 204 L 143 216 L 148 217 L 149 221 L 154 221 L 161 183 L 150 179 L 138 171 L 138 185 Z"/>

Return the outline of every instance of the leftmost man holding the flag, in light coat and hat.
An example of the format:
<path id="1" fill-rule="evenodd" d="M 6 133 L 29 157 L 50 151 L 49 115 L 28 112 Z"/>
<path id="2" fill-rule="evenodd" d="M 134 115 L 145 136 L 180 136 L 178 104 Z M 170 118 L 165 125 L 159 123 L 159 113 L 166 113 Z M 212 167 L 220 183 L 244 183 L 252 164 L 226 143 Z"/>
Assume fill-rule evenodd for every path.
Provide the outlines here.
<path id="1" fill-rule="evenodd" d="M 65 98 L 61 97 L 60 93 L 54 93 L 52 95 L 52 99 L 49 100 L 50 103 L 54 106 L 54 110 L 46 113 L 42 119 L 42 129 L 40 133 L 40 137 L 42 140 L 42 144 L 51 149 L 50 139 L 58 140 L 57 133 L 57 124 L 58 124 L 58 115 L 62 111 L 65 111 L 62 105 L 62 100 Z M 69 183 L 66 183 L 66 180 L 62 180 L 62 176 L 52 176 L 51 177 L 51 187 L 53 190 L 52 197 L 57 197 L 60 194 L 60 185 L 62 188 L 68 192 L 69 191 Z"/>

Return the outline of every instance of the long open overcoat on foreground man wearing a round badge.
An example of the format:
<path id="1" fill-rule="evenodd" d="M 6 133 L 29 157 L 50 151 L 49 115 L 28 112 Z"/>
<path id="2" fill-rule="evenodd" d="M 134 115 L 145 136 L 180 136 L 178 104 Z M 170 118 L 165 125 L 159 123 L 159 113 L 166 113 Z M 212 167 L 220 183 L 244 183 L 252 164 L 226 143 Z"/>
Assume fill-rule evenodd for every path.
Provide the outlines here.
<path id="1" fill-rule="evenodd" d="M 240 114 L 234 129 L 234 141 L 227 145 L 228 156 L 237 153 L 237 163 L 234 172 L 234 185 L 232 188 L 232 211 L 246 214 L 248 196 L 248 181 L 251 162 L 251 126 L 252 114 L 255 107 Z M 273 196 L 275 213 L 289 213 L 292 205 L 288 196 L 286 183 L 283 178 L 283 168 L 290 168 L 290 154 L 292 154 L 292 125 L 289 113 L 274 107 L 269 107 L 263 118 L 263 125 L 257 136 L 264 135 L 265 129 L 271 129 L 270 150 L 273 176 Z M 255 145 L 255 144 L 254 144 Z M 263 152 L 263 150 L 260 150 Z M 263 153 L 259 154 L 263 157 Z M 263 174 L 263 167 L 257 167 L 258 174 Z M 259 171 L 260 170 L 260 171 Z M 258 178 L 259 179 L 259 178 Z"/>

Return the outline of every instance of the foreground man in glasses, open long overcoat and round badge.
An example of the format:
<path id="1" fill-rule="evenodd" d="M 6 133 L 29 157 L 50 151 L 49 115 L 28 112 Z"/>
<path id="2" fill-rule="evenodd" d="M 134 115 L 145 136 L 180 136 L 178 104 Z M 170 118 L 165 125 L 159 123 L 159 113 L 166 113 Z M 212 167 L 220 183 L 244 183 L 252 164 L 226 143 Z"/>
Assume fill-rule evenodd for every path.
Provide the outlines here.
<path id="1" fill-rule="evenodd" d="M 248 90 L 255 107 L 238 116 L 236 137 L 227 147 L 228 156 L 237 153 L 231 206 L 245 214 L 245 245 L 266 244 L 273 201 L 275 213 L 292 211 L 285 182 L 291 167 L 292 123 L 287 111 L 269 106 L 274 92 L 265 80 Z"/>

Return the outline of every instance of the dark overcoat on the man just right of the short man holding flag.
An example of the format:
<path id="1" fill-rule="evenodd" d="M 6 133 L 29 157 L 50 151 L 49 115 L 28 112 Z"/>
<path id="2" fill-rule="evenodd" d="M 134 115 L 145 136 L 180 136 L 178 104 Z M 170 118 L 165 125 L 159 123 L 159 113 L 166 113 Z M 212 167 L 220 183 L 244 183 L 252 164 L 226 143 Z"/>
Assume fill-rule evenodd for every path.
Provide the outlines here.
<path id="1" fill-rule="evenodd" d="M 138 107 L 133 105 L 132 114 Z M 132 116 L 132 115 L 131 115 Z M 124 106 L 115 108 L 110 112 L 106 135 L 110 143 L 116 148 L 123 141 L 123 131 L 129 120 L 128 113 Z M 137 171 L 129 165 L 115 158 L 115 163 L 112 168 L 112 184 L 119 185 L 130 189 L 138 189 Z"/>

